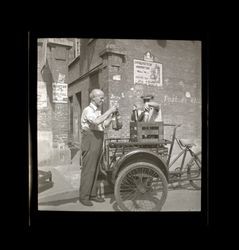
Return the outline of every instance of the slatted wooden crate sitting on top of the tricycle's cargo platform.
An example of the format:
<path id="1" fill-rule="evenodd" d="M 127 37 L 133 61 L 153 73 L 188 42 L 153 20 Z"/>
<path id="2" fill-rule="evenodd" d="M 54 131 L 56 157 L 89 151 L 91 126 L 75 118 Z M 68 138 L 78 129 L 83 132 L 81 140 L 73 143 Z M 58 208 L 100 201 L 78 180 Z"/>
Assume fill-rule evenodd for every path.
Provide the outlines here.
<path id="1" fill-rule="evenodd" d="M 137 142 L 158 142 L 163 140 L 163 122 L 130 122 L 130 139 Z"/>

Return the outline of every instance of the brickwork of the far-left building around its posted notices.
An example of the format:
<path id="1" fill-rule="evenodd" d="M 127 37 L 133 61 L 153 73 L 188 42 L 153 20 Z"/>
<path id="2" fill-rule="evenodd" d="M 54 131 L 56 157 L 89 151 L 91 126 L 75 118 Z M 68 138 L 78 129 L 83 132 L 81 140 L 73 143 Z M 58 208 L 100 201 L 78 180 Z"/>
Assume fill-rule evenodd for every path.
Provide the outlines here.
<path id="1" fill-rule="evenodd" d="M 42 71 L 38 68 L 38 91 L 45 86 L 47 106 L 38 106 L 38 156 L 39 164 L 58 164 L 64 158 L 69 161 L 69 152 L 60 152 L 59 148 L 68 143 L 69 108 L 68 103 L 53 103 L 52 84 L 58 81 L 59 74 L 65 75 L 68 82 L 69 42 L 67 46 L 57 44 L 57 39 L 47 44 L 46 64 Z M 63 39 L 64 40 L 64 39 Z M 63 41 L 64 42 L 64 41 Z M 43 59 L 43 45 L 38 44 L 38 64 Z M 43 82 L 44 84 L 40 84 Z M 57 149 L 58 148 L 58 149 Z M 58 150 L 56 152 L 56 150 Z M 47 157 L 46 157 L 47 152 Z M 41 161 L 43 160 L 43 161 Z"/>

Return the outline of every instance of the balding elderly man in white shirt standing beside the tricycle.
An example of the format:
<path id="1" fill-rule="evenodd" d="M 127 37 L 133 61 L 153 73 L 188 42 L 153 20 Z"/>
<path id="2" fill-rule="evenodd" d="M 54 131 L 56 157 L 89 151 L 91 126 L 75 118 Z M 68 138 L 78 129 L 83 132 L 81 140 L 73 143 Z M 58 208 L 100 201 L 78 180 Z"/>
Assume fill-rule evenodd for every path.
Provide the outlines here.
<path id="1" fill-rule="evenodd" d="M 85 206 L 92 206 L 91 200 L 104 202 L 103 198 L 97 197 L 98 162 L 102 152 L 104 129 L 110 125 L 112 113 L 118 108 L 113 106 L 101 114 L 104 92 L 100 89 L 93 89 L 90 93 L 90 99 L 90 105 L 83 110 L 81 116 L 83 166 L 80 181 L 80 202 Z"/>

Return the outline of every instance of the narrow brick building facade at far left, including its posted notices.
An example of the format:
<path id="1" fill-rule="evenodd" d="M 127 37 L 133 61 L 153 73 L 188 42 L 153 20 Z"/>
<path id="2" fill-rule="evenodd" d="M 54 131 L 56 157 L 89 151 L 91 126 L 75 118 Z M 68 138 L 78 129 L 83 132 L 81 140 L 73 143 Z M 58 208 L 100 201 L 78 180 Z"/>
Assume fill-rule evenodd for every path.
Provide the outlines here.
<path id="1" fill-rule="evenodd" d="M 37 131 L 38 164 L 70 162 L 68 64 L 73 42 L 38 39 Z"/>

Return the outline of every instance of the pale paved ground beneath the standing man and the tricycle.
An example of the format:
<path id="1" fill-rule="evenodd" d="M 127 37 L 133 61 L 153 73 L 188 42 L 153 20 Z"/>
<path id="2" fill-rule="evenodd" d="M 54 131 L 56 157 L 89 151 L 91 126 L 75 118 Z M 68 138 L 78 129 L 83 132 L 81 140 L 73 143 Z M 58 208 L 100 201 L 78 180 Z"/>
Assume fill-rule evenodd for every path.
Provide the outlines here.
<path id="1" fill-rule="evenodd" d="M 42 168 L 42 170 L 48 169 L 52 171 L 54 187 L 39 193 L 39 210 L 119 211 L 112 193 L 105 195 L 104 203 L 94 202 L 92 207 L 85 207 L 79 203 L 79 169 L 72 169 L 69 166 Z M 190 185 L 169 184 L 168 196 L 161 211 L 200 211 L 200 209 L 201 191 L 194 190 Z"/>

